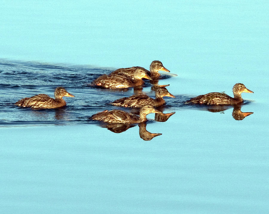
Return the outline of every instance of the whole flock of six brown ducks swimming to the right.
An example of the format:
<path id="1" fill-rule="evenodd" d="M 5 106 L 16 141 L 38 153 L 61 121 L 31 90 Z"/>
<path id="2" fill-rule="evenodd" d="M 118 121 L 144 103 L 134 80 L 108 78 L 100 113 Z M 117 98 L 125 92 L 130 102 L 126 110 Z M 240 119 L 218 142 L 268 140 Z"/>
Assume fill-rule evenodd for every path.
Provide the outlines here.
<path id="1" fill-rule="evenodd" d="M 150 65 L 149 71 L 142 67 L 132 67 L 132 68 L 120 68 L 111 74 L 104 74 L 92 82 L 92 86 L 102 87 L 102 88 L 130 88 L 137 87 L 144 84 L 142 78 L 149 80 L 159 79 L 161 74 L 158 71 L 170 72 L 166 69 L 160 61 L 153 61 Z M 146 115 L 149 113 L 161 114 L 162 112 L 156 110 L 154 107 L 161 106 L 165 104 L 163 96 L 173 97 L 171 93 L 165 88 L 168 85 L 155 85 L 155 99 L 143 94 L 138 93 L 130 97 L 123 97 L 117 99 L 111 104 L 122 107 L 139 107 L 139 116 L 128 113 L 123 110 L 105 110 L 91 116 L 92 120 L 103 121 L 105 123 L 141 123 L 146 121 Z M 242 92 L 254 93 L 253 91 L 247 89 L 244 84 L 237 83 L 233 86 L 234 97 L 230 97 L 225 93 L 207 93 L 204 95 L 199 95 L 194 97 L 185 103 L 191 104 L 205 104 L 205 105 L 236 105 L 243 103 L 241 96 Z M 23 98 L 15 103 L 17 106 L 21 107 L 31 107 L 32 109 L 53 109 L 61 108 L 66 105 L 64 96 L 75 97 L 71 93 L 68 93 L 65 88 L 57 87 L 54 92 L 55 99 L 49 97 L 46 94 L 38 94 L 32 97 Z"/>

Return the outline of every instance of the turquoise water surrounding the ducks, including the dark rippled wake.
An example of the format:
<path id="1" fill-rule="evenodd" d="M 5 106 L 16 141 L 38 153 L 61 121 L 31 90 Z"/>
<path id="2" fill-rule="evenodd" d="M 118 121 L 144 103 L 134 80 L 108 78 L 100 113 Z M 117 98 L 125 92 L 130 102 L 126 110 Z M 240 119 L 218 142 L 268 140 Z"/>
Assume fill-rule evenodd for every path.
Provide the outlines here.
<path id="1" fill-rule="evenodd" d="M 4 1 L 0 13 L 3 213 L 268 213 L 268 1 Z M 134 93 L 87 87 L 116 68 L 161 60 L 166 122 L 114 133 L 88 120 Z M 242 82 L 233 108 L 185 105 Z M 60 110 L 13 105 L 38 93 Z M 143 92 L 154 96 L 150 85 Z M 114 107 L 115 108 L 115 107 Z M 129 110 L 129 109 L 126 109 Z"/>

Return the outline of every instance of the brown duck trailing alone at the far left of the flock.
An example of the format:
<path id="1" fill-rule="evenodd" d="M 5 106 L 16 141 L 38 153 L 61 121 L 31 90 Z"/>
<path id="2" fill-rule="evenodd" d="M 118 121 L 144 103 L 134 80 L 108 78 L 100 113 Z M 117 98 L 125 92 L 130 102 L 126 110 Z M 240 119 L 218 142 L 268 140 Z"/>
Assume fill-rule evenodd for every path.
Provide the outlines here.
<path id="1" fill-rule="evenodd" d="M 62 97 L 75 97 L 68 93 L 65 88 L 57 87 L 54 91 L 55 99 L 46 94 L 38 94 L 32 97 L 25 97 L 15 103 L 20 107 L 30 107 L 32 109 L 55 109 L 66 106 L 66 102 Z"/>

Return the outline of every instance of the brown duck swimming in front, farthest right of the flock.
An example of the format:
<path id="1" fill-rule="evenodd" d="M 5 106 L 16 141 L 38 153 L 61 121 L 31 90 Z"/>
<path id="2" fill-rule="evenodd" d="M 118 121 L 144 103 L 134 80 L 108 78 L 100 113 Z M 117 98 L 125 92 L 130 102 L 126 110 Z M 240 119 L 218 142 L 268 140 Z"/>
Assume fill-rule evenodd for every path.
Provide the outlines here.
<path id="1" fill-rule="evenodd" d="M 253 91 L 246 88 L 246 86 L 242 83 L 236 83 L 233 86 L 233 95 L 234 97 L 230 97 L 225 93 L 212 92 L 204 95 L 199 95 L 194 97 L 185 103 L 192 104 L 205 104 L 205 105 L 234 105 L 241 104 L 244 102 L 242 99 L 241 93 L 254 93 Z"/>

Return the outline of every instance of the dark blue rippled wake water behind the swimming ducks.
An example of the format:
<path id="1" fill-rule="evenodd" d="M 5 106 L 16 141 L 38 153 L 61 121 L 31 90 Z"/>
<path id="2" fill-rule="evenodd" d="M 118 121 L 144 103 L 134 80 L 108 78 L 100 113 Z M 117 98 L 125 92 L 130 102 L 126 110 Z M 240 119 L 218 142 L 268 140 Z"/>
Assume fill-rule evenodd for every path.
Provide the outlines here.
<path id="1" fill-rule="evenodd" d="M 110 90 L 88 86 L 98 76 L 109 74 L 113 70 L 115 69 L 92 68 L 88 65 L 50 65 L 0 60 L 0 126 L 85 123 L 94 113 L 115 109 L 109 103 L 123 96 L 131 96 L 134 89 Z M 66 97 L 67 106 L 62 109 L 31 110 L 14 105 L 19 99 L 39 93 L 53 97 L 58 86 L 66 88 L 76 96 Z M 146 82 L 145 87 L 151 87 L 151 84 Z M 154 92 L 150 96 L 154 97 Z"/>

